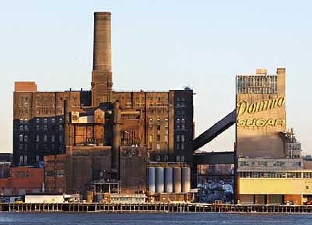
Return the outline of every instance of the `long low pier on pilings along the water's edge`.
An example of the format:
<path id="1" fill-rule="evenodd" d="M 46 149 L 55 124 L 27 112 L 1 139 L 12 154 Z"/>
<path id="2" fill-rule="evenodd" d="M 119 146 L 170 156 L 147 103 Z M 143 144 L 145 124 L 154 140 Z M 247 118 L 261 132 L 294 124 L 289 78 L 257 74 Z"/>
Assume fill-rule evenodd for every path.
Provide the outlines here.
<path id="1" fill-rule="evenodd" d="M 0 212 L 312 213 L 312 205 L 219 205 L 205 203 L 0 203 Z"/>

